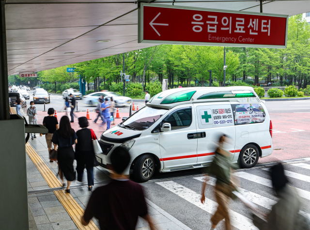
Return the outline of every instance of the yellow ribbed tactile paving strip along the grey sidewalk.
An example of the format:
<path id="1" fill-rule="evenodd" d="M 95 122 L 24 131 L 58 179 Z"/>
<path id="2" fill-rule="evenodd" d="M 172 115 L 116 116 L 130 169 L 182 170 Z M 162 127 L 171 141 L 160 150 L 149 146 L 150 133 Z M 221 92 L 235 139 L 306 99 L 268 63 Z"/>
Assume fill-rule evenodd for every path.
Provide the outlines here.
<path id="1" fill-rule="evenodd" d="M 62 183 L 57 179 L 54 173 L 47 167 L 41 157 L 34 151 L 29 143 L 26 144 L 26 153 L 31 158 L 34 165 L 40 171 L 47 184 L 51 188 L 61 187 Z M 84 210 L 79 206 L 78 202 L 72 197 L 71 194 L 66 193 L 64 190 L 54 191 L 56 197 L 62 203 L 67 213 L 70 215 L 71 219 L 78 226 L 79 230 L 90 229 L 99 230 L 99 228 L 91 222 L 87 226 L 81 224 L 81 216 L 84 214 Z"/>

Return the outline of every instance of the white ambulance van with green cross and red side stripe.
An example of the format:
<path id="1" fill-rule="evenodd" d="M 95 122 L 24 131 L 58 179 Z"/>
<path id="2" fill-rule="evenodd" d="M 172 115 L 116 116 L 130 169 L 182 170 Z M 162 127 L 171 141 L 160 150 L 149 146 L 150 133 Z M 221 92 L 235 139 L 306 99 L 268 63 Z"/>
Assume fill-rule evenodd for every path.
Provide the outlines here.
<path id="1" fill-rule="evenodd" d="M 247 108 L 261 108 L 264 119 L 251 122 Z M 158 93 L 146 107 L 101 135 L 103 153 L 96 159 L 109 171 L 109 154 L 123 146 L 131 155 L 125 173 L 133 174 L 137 181 L 148 181 L 155 170 L 207 166 L 220 134 L 232 140 L 226 149 L 242 168 L 253 167 L 259 157 L 272 153 L 272 123 L 253 88 L 195 87 Z"/>

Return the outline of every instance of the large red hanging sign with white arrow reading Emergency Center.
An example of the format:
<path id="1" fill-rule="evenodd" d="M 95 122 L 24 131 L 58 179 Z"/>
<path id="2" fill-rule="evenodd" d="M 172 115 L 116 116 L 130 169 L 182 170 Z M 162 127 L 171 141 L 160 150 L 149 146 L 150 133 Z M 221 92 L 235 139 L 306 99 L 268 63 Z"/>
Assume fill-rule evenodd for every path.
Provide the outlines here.
<path id="1" fill-rule="evenodd" d="M 288 15 L 140 3 L 139 43 L 286 48 Z"/>

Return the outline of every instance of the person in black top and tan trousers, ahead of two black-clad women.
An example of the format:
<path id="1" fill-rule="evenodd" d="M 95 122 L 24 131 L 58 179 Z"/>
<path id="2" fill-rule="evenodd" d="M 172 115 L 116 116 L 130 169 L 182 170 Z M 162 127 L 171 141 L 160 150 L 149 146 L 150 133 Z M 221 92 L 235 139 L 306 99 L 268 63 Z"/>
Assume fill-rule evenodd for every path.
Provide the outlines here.
<path id="1" fill-rule="evenodd" d="M 43 119 L 43 125 L 48 129 L 48 133 L 45 135 L 45 139 L 47 141 L 47 148 L 48 148 L 48 153 L 52 150 L 53 145 L 52 145 L 52 138 L 53 134 L 57 129 L 59 129 L 59 124 L 57 121 L 57 118 L 54 117 L 55 109 L 54 108 L 48 108 L 47 110 L 47 117 L 44 117 Z M 53 162 L 50 160 L 49 162 Z"/>

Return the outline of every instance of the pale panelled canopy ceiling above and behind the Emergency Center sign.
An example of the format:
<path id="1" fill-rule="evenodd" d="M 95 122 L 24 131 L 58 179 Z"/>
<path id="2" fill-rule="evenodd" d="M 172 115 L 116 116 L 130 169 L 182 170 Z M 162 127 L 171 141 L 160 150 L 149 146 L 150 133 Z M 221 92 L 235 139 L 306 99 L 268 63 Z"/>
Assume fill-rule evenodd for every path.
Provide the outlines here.
<path id="1" fill-rule="evenodd" d="M 132 0 L 6 0 L 8 74 L 29 73 L 155 46 L 138 44 Z M 153 4 L 172 5 L 173 0 Z M 174 5 L 259 12 L 256 0 L 175 0 Z M 263 12 L 297 15 L 310 0 L 263 2 Z M 100 40 L 110 42 L 98 43 Z M 66 53 L 66 54 L 65 54 Z"/>

